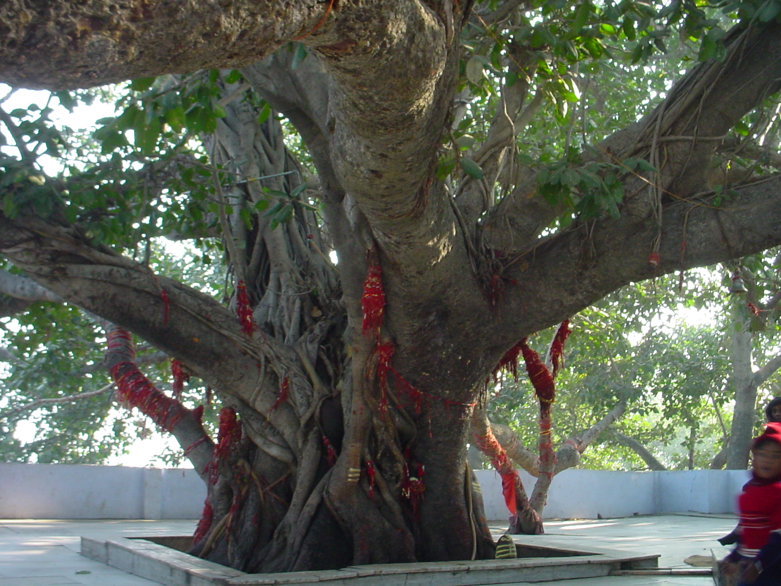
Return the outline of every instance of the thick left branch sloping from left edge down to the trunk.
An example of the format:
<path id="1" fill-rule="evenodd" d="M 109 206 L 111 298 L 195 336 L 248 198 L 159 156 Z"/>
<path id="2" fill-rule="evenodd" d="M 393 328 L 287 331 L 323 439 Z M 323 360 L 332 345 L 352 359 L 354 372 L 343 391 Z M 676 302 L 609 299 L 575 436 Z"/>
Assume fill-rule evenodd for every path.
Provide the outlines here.
<path id="1" fill-rule="evenodd" d="M 0 219 L 0 250 L 59 298 L 133 331 L 208 384 L 246 385 L 251 395 L 257 380 L 251 344 L 212 298 L 33 216 Z"/>

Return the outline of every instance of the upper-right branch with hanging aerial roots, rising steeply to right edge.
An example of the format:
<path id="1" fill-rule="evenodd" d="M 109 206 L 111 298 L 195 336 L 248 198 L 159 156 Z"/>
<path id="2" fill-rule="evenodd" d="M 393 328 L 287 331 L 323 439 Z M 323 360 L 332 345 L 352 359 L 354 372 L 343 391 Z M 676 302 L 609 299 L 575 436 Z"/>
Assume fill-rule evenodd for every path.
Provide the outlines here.
<path id="1" fill-rule="evenodd" d="M 584 156 L 587 161 L 617 164 L 631 155 L 658 163 L 658 175 L 626 176 L 623 213 L 643 217 L 655 213 L 660 201 L 688 198 L 704 188 L 711 157 L 720 144 L 714 138 L 726 134 L 777 90 L 781 27 L 734 27 L 726 45 L 723 62 L 711 60 L 694 67 L 643 120 L 619 130 Z M 534 177 L 526 178 L 491 213 L 487 234 L 493 248 L 518 250 L 531 245 L 561 213 L 560 207 L 535 195 L 536 189 Z"/>

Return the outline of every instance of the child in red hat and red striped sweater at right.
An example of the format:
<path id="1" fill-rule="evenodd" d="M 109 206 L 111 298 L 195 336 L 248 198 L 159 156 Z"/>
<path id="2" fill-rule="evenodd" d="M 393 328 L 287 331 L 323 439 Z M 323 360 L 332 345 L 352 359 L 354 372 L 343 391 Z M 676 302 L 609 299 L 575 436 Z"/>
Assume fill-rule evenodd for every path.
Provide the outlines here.
<path id="1" fill-rule="evenodd" d="M 740 584 L 781 584 L 781 423 L 768 423 L 754 439 L 751 481 L 738 497 L 737 548 L 730 561 L 740 562 Z"/>

